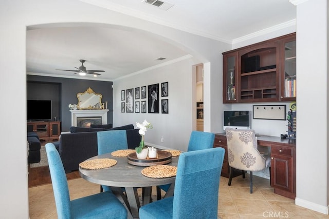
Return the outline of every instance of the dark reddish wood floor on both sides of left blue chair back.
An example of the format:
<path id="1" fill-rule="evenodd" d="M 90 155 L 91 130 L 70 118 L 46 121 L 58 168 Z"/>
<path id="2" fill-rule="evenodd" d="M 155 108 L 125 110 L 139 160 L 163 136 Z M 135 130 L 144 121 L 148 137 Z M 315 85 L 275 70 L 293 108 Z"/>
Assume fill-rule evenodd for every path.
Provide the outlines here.
<path id="1" fill-rule="evenodd" d="M 29 172 L 29 187 L 40 186 L 51 183 L 49 166 L 43 167 L 28 167 Z M 67 180 L 80 178 L 79 171 L 72 171 L 66 174 Z"/>

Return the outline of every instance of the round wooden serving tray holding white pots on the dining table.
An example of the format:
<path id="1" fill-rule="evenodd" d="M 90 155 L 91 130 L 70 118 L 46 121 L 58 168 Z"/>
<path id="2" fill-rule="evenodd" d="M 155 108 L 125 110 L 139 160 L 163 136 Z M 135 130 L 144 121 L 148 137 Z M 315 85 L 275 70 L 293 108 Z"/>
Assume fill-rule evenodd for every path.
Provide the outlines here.
<path id="1" fill-rule="evenodd" d="M 171 153 L 163 150 L 157 150 L 157 157 L 146 159 L 138 159 L 136 152 L 131 153 L 127 156 L 128 163 L 136 166 L 154 166 L 154 165 L 163 165 L 171 162 Z"/>

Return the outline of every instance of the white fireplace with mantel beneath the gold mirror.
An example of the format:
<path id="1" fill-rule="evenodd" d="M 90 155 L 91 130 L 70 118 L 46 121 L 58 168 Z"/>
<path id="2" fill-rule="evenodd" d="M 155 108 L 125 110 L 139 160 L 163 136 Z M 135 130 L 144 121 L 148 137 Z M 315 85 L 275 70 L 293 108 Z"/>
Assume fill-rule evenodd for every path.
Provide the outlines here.
<path id="1" fill-rule="evenodd" d="M 90 127 L 91 124 L 107 124 L 106 110 L 70 110 L 71 126 Z"/>

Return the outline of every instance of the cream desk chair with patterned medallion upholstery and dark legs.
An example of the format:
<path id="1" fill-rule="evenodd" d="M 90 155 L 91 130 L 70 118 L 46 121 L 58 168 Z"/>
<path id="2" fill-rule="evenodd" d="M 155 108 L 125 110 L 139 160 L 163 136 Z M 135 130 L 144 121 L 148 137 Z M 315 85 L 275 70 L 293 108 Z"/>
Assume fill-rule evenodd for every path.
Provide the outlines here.
<path id="1" fill-rule="evenodd" d="M 228 164 L 230 175 L 228 185 L 231 185 L 233 169 L 250 172 L 250 193 L 252 193 L 252 171 L 260 171 L 270 168 L 271 160 L 269 156 L 263 156 L 257 149 L 255 131 L 252 129 L 232 129 L 226 128 Z"/>

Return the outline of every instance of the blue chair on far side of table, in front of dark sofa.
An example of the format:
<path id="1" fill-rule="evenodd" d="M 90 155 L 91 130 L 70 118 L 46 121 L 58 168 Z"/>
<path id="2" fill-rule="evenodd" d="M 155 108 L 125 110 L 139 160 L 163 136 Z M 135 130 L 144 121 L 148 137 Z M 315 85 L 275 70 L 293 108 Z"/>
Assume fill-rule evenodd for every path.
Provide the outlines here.
<path id="1" fill-rule="evenodd" d="M 126 130 L 97 132 L 98 155 L 128 149 Z M 101 185 L 100 191 L 111 191 L 108 186 Z"/>

